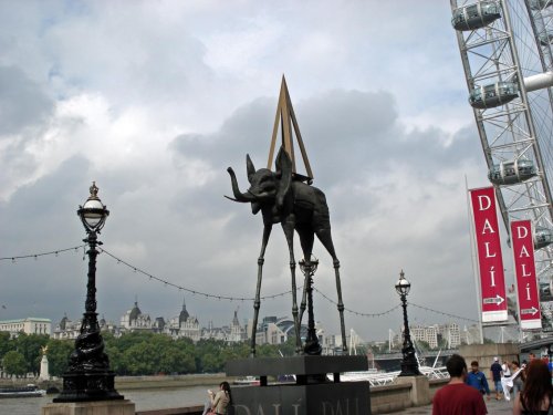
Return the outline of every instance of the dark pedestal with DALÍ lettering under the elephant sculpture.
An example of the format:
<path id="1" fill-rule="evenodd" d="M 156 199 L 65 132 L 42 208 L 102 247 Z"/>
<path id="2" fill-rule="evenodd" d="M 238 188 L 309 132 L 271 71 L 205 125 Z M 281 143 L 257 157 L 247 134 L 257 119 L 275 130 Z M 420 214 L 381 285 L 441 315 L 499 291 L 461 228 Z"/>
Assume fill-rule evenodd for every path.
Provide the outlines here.
<path id="1" fill-rule="evenodd" d="M 293 356 L 231 361 L 229 376 L 259 376 L 259 386 L 234 386 L 236 415 L 369 415 L 368 382 L 341 382 L 343 372 L 366 371 L 366 356 Z M 268 376 L 295 376 L 270 383 Z M 330 378 L 328 378 L 330 376 Z"/>

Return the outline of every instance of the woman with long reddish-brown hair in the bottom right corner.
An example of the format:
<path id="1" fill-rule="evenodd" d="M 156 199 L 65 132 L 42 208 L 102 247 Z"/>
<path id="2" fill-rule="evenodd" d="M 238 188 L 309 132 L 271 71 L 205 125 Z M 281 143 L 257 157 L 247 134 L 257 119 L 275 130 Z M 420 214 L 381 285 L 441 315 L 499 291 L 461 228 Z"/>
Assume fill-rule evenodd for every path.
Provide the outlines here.
<path id="1" fill-rule="evenodd" d="M 545 415 L 552 396 L 547 364 L 542 360 L 533 360 L 528 367 L 524 390 L 514 400 L 513 415 Z"/>

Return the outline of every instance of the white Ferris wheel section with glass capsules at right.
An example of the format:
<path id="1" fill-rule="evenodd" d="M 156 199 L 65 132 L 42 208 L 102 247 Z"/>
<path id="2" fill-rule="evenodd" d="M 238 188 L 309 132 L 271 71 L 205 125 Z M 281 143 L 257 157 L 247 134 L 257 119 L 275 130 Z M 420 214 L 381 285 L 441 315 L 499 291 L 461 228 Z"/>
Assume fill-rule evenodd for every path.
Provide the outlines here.
<path id="1" fill-rule="evenodd" d="M 508 232 L 511 220 L 532 221 L 536 273 L 551 297 L 553 0 L 450 2 L 488 178 Z M 553 307 L 542 315 L 553 330 Z"/>

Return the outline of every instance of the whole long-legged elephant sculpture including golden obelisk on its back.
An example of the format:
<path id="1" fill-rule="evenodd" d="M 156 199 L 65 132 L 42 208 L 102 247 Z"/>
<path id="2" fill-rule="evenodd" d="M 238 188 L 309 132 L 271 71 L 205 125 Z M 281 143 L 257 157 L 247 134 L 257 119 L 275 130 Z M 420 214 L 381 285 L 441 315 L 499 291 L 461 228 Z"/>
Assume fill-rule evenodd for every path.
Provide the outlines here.
<path id="1" fill-rule="evenodd" d="M 274 158 L 274 170 L 272 170 L 271 165 L 273 163 L 279 129 L 281 132 L 282 142 L 278 155 Z M 305 166 L 305 175 L 296 172 L 294 136 Z M 312 186 L 313 173 L 311 170 L 307 153 L 303 144 L 284 76 L 282 76 L 279 105 L 274 118 L 267 168 L 255 169 L 249 155 L 246 156 L 246 167 L 248 181 L 250 183 L 250 187 L 246 191 L 240 191 L 233 169 L 229 167 L 227 170 L 230 174 L 232 193 L 234 195 L 233 198 L 229 197 L 229 199 L 250 203 L 252 212 L 255 215 L 261 211 L 263 218 L 263 236 L 261 240 L 261 251 L 258 258 L 258 281 L 253 303 L 251 355 L 255 355 L 255 332 L 259 309 L 261 307 L 261 281 L 263 277 L 264 253 L 271 229 L 275 224 L 282 226 L 290 255 L 292 315 L 296 339 L 296 354 L 320 355 L 322 352 L 315 331 L 315 320 L 313 315 L 313 277 L 319 264 L 319 260 L 313 257 L 315 235 L 333 260 L 336 278 L 337 309 L 340 312 L 342 331 L 342 351 L 343 354 L 347 354 L 340 261 L 336 257 L 334 243 L 332 242 L 328 206 L 324 193 Z M 300 308 L 298 307 L 296 295 L 296 262 L 293 247 L 294 230 L 300 237 L 303 251 L 303 259 L 299 262 L 300 269 L 304 276 L 303 295 Z M 307 307 L 307 338 L 305 344 L 302 345 L 300 329 L 305 307 Z"/>

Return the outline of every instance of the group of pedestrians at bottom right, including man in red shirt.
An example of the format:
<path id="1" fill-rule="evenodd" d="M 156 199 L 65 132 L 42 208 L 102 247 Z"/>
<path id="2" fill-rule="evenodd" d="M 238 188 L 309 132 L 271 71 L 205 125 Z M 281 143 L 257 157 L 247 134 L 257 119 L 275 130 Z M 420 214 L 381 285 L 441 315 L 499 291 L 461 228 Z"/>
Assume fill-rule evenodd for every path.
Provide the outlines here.
<path id="1" fill-rule="evenodd" d="M 494 398 L 513 401 L 513 415 L 553 415 L 552 366 L 546 359 L 535 359 L 530 353 L 530 362 L 493 359 L 490 380 Z M 467 362 L 453 354 L 446 363 L 449 383 L 438 390 L 432 400 L 432 415 L 484 415 L 488 413 L 486 400 L 492 392 L 486 374 L 478 361 Z M 486 400 L 484 400 L 486 397 Z"/>

